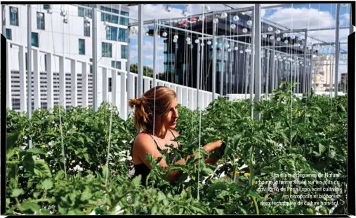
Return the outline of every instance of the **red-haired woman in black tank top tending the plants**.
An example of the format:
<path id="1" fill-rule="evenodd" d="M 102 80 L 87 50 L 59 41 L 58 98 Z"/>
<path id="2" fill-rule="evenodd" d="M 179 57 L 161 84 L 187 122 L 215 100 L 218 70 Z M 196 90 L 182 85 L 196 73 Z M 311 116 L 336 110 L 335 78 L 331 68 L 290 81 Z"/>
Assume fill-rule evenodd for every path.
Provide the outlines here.
<path id="1" fill-rule="evenodd" d="M 178 142 L 173 140 L 179 133 L 174 130 L 178 119 L 178 102 L 174 90 L 165 86 L 151 88 L 143 97 L 130 99 L 128 102 L 131 108 L 135 108 L 134 123 L 141 132 L 136 136 L 131 147 L 131 156 L 135 168 L 135 175 L 141 175 L 141 182 L 145 185 L 146 177 L 150 173 L 150 163 L 145 160 L 147 154 L 151 154 L 154 159 L 161 157 L 161 150 L 168 149 L 166 144 L 173 144 L 178 149 Z M 208 153 L 221 147 L 223 142 L 218 140 L 206 144 L 203 149 Z M 197 154 L 195 154 L 197 156 Z M 189 158 L 190 156 L 187 156 Z M 170 157 L 171 159 L 171 157 Z M 215 158 L 208 158 L 206 163 L 215 163 Z M 184 165 L 185 159 L 177 161 L 175 164 Z M 169 163 L 161 158 L 159 165 L 166 170 Z M 180 175 L 179 170 L 169 173 L 169 182 L 175 182 Z"/>

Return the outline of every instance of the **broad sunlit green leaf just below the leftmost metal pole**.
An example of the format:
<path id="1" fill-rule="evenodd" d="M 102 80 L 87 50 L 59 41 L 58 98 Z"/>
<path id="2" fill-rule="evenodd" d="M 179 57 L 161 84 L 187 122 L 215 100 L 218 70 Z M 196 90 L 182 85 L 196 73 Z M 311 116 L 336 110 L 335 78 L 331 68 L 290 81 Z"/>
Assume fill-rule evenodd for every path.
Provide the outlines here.
<path id="1" fill-rule="evenodd" d="M 47 163 L 41 159 L 36 160 L 35 156 L 25 156 L 23 165 L 32 175 L 37 175 L 38 177 L 52 177 Z"/>

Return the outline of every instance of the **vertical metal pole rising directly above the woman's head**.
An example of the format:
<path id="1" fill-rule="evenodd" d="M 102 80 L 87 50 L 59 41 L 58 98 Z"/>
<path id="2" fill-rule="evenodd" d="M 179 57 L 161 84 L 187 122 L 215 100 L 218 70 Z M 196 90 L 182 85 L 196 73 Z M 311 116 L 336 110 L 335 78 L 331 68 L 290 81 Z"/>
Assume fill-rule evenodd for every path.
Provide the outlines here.
<path id="1" fill-rule="evenodd" d="M 138 5 L 138 77 L 137 96 L 143 95 L 143 4 Z"/>

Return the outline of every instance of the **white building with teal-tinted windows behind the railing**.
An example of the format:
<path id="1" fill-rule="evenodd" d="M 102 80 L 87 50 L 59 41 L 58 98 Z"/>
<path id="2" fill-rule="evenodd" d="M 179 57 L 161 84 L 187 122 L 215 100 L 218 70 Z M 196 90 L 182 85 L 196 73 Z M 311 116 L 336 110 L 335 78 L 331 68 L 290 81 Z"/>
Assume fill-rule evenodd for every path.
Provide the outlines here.
<path id="1" fill-rule="evenodd" d="M 4 15 L 5 22 L 1 20 L 1 26 L 5 29 L 3 33 L 8 41 L 11 41 L 9 55 L 11 56 L 11 90 L 13 109 L 20 109 L 20 47 L 25 49 L 25 59 L 27 60 L 27 5 L 2 5 L 1 15 Z M 92 5 L 81 5 L 91 8 Z M 110 14 L 99 12 L 97 15 L 98 31 L 98 64 L 126 70 L 128 58 L 128 16 L 129 9 L 126 5 L 99 4 L 98 9 L 108 11 Z M 39 55 L 39 71 L 41 75 L 41 107 L 46 108 L 46 71 L 48 68 L 48 58 L 46 53 L 53 54 L 53 96 L 54 104 L 59 102 L 59 60 L 55 55 L 61 55 L 79 62 L 88 63 L 88 104 L 92 104 L 93 79 L 91 74 L 92 64 L 92 10 L 81 8 L 75 5 L 60 4 L 36 4 L 31 6 L 32 10 L 32 48 L 41 50 Z M 117 14 L 117 15 L 114 15 Z M 18 45 L 18 46 L 14 46 Z M 51 55 L 52 56 L 52 55 Z M 33 57 L 33 53 L 32 53 Z M 32 60 L 33 61 L 33 60 Z M 81 106 L 81 76 L 78 74 L 77 86 L 71 84 L 70 71 L 71 64 L 68 60 L 65 64 L 66 72 L 66 92 L 70 93 L 72 88 L 78 90 L 78 106 Z M 77 71 L 83 71 L 81 64 L 77 64 Z M 85 68 L 86 69 L 86 68 Z M 27 70 L 27 61 L 26 61 Z M 34 63 L 32 62 L 32 71 Z M 27 74 L 26 74 L 27 75 Z M 33 73 L 32 73 L 33 77 Z M 101 81 L 98 78 L 98 84 Z M 33 88 L 33 83 L 32 83 Z M 100 88 L 100 87 L 99 87 Z M 108 92 L 111 92 L 111 78 L 109 78 Z M 33 98 L 33 96 L 32 96 Z M 70 98 L 66 99 L 70 104 Z"/>

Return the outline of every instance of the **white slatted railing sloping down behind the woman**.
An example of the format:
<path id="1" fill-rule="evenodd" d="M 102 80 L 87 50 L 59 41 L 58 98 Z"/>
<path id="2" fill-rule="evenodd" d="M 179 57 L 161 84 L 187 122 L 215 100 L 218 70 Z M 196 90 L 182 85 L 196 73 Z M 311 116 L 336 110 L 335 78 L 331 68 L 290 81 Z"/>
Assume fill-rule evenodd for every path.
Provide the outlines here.
<path id="1" fill-rule="evenodd" d="M 27 46 L 20 45 L 18 43 L 13 43 L 7 41 L 6 43 L 6 107 L 13 109 L 13 85 L 11 79 L 11 47 L 18 46 L 18 70 L 20 73 L 20 111 L 27 110 L 27 79 L 26 79 L 26 70 L 25 70 L 25 50 Z M 58 55 L 55 53 L 49 53 L 45 50 L 39 50 L 37 48 L 32 48 L 32 62 L 33 62 L 33 79 L 32 79 L 32 99 L 34 102 L 34 109 L 41 108 L 41 94 L 46 95 L 45 102 L 47 103 L 47 108 L 53 108 L 54 95 L 58 94 L 54 92 L 54 62 L 55 57 L 59 59 L 59 102 L 62 107 L 66 106 L 82 106 L 88 107 L 89 102 L 89 93 L 92 92 L 92 89 L 89 88 L 88 75 L 90 74 L 91 62 L 86 62 L 83 60 L 76 60 L 72 57 L 65 57 L 63 55 Z M 41 93 L 41 71 L 40 66 L 40 53 L 46 54 L 46 90 L 45 93 Z M 70 61 L 69 66 L 67 66 L 67 60 Z M 81 66 L 80 66 L 81 65 Z M 81 70 L 78 70 L 80 69 Z M 70 78 L 66 76 L 66 72 L 69 69 Z M 79 76 L 81 74 L 81 76 Z M 98 64 L 98 104 L 102 102 L 110 102 L 114 106 L 119 108 L 121 118 L 127 118 L 130 110 L 128 109 L 128 98 L 138 97 L 136 95 L 136 85 L 137 85 L 137 74 L 129 74 L 121 69 L 116 69 L 112 67 L 107 67 Z M 108 91 L 109 88 L 109 78 L 112 78 L 112 90 Z M 70 80 L 70 92 L 66 93 L 66 83 L 67 80 Z M 79 83 L 80 81 L 80 83 Z M 44 83 L 44 81 L 42 81 Z M 144 92 L 152 88 L 153 79 L 147 76 L 143 76 L 143 90 Z M 79 88 L 77 85 L 81 85 L 81 97 L 78 95 Z M 180 86 L 175 83 L 169 83 L 166 81 L 157 80 L 157 86 L 167 86 L 176 91 L 178 97 L 178 104 L 182 104 L 185 107 L 190 109 L 205 109 L 208 107 L 209 103 L 213 100 L 212 93 L 199 90 L 199 102 L 197 105 L 197 89 L 190 88 L 187 86 Z M 216 94 L 216 97 L 219 95 Z M 79 105 L 79 100 L 82 104 Z"/>

